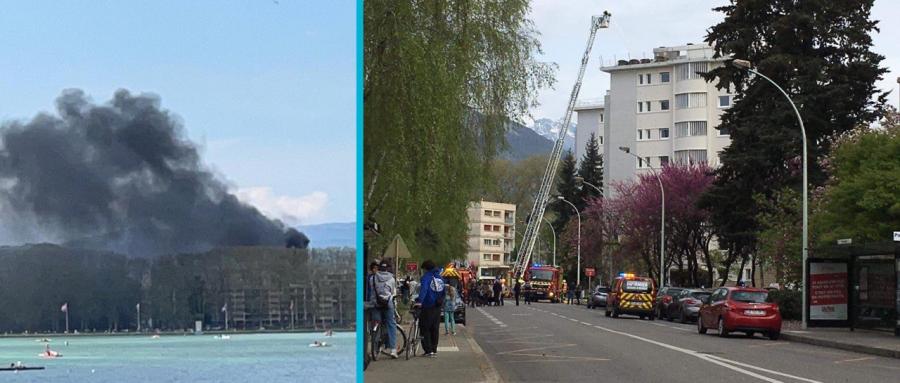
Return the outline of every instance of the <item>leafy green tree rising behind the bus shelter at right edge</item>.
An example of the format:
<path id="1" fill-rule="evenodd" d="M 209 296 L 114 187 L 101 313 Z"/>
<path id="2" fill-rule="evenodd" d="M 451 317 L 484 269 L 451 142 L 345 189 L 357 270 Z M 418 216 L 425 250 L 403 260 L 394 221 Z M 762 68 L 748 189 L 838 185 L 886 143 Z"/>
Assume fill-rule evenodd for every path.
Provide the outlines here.
<path id="1" fill-rule="evenodd" d="M 842 136 L 826 163 L 832 177 L 813 216 L 820 244 L 890 240 L 900 230 L 900 115 Z"/>

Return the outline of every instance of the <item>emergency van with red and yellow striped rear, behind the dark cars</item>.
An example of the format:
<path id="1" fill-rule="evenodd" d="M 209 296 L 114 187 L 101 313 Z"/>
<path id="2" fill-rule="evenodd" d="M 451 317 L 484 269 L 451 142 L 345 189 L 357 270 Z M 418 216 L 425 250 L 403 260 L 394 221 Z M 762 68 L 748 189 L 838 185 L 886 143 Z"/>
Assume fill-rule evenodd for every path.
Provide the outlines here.
<path id="1" fill-rule="evenodd" d="M 647 277 L 621 273 L 613 280 L 606 298 L 606 316 L 618 318 L 620 314 L 637 315 L 641 319 L 654 320 L 653 302 L 656 299 L 656 283 Z"/>

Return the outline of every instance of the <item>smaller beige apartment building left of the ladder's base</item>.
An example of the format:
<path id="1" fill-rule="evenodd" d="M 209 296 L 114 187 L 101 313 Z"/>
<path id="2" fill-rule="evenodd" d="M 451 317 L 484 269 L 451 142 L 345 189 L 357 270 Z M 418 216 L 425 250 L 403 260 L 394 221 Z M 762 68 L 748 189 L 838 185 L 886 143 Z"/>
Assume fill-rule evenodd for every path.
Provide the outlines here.
<path id="1" fill-rule="evenodd" d="M 506 277 L 516 245 L 516 205 L 475 201 L 466 209 L 469 216 L 470 265 L 476 265 L 478 279 Z"/>

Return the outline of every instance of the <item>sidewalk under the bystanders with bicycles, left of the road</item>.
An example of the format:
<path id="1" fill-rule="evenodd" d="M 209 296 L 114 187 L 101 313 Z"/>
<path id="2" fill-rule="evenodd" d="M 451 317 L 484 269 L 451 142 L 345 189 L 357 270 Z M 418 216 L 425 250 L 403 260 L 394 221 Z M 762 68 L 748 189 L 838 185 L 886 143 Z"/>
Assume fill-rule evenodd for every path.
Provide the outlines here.
<path id="1" fill-rule="evenodd" d="M 500 375 L 472 338 L 471 330 L 459 324 L 456 326 L 456 335 L 444 335 L 444 325 L 441 324 L 437 357 L 421 356 L 421 347 L 420 356 L 410 357 L 409 360 L 403 355 L 399 359 L 382 355 L 378 361 L 369 363 L 369 367 L 363 372 L 365 381 L 500 382 Z M 406 330 L 408 327 L 409 322 L 404 318 L 403 329 Z"/>

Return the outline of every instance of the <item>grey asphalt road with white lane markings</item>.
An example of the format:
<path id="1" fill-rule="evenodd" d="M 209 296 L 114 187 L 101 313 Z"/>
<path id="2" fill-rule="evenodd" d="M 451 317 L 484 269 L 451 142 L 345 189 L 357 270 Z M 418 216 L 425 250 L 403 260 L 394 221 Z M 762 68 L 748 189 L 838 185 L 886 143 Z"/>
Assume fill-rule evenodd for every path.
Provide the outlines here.
<path id="1" fill-rule="evenodd" d="M 506 382 L 900 382 L 900 359 L 535 303 L 468 310 Z"/>

